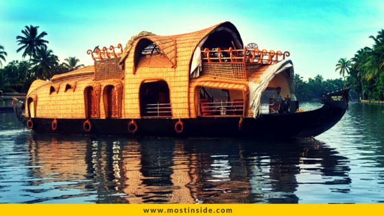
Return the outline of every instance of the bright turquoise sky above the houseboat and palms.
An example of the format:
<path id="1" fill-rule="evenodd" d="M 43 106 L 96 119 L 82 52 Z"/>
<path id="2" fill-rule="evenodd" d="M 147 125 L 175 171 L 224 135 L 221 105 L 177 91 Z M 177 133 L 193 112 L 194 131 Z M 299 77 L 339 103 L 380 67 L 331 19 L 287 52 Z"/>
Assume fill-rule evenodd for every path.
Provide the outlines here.
<path id="1" fill-rule="evenodd" d="M 11 60 L 25 25 L 47 32 L 48 49 L 60 62 L 69 56 L 93 64 L 88 49 L 125 43 L 145 30 L 158 35 L 194 32 L 230 21 L 244 45 L 289 51 L 295 73 L 339 78 L 335 64 L 372 46 L 384 28 L 384 1 L 72 1 L 0 0 L 0 45 Z"/>

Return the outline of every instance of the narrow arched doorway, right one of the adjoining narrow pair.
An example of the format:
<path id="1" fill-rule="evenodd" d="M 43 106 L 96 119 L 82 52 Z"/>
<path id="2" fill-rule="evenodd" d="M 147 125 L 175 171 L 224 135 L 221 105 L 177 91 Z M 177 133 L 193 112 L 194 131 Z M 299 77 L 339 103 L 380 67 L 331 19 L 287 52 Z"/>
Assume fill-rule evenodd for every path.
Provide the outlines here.
<path id="1" fill-rule="evenodd" d="M 119 100 L 117 98 L 117 88 L 112 85 L 104 87 L 103 91 L 104 110 L 106 118 L 119 117 Z"/>

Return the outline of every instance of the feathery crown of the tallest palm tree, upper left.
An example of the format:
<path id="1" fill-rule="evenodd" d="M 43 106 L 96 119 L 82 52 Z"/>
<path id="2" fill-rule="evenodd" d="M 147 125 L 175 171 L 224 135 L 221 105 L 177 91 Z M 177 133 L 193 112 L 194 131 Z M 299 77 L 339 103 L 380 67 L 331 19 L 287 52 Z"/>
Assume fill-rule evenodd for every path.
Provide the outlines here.
<path id="1" fill-rule="evenodd" d="M 47 40 L 43 40 L 43 37 L 47 35 L 46 32 L 41 32 L 38 34 L 38 26 L 25 26 L 25 29 L 21 30 L 23 36 L 16 36 L 17 45 L 21 45 L 16 51 L 23 51 L 23 58 L 29 56 L 29 59 L 32 56 L 36 55 L 38 49 L 47 48 Z"/>

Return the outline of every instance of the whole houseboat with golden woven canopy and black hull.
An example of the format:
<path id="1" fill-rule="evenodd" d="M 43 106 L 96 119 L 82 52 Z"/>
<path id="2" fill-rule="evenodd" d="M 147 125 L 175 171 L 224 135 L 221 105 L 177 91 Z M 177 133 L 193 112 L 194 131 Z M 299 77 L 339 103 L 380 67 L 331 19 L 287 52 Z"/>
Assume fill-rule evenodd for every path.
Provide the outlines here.
<path id="1" fill-rule="evenodd" d="M 288 51 L 243 44 L 235 25 L 89 49 L 94 64 L 32 83 L 27 128 L 68 134 L 310 137 L 346 112 L 348 90 L 303 112 Z"/>

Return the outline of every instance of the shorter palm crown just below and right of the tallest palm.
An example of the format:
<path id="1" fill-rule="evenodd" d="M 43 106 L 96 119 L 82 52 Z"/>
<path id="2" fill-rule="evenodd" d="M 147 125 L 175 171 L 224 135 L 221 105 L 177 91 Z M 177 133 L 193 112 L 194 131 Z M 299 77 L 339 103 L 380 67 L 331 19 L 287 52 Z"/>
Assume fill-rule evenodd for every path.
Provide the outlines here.
<path id="1" fill-rule="evenodd" d="M 58 56 L 53 55 L 51 49 L 38 49 L 32 58 L 32 71 L 36 77 L 47 80 L 51 77 L 52 71 L 58 66 Z"/>

